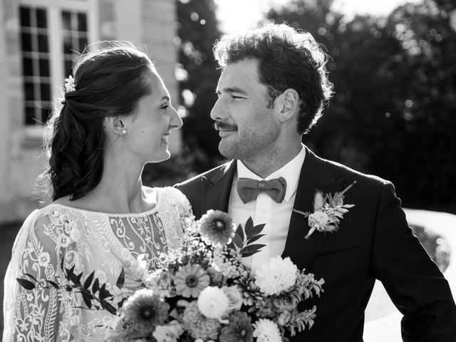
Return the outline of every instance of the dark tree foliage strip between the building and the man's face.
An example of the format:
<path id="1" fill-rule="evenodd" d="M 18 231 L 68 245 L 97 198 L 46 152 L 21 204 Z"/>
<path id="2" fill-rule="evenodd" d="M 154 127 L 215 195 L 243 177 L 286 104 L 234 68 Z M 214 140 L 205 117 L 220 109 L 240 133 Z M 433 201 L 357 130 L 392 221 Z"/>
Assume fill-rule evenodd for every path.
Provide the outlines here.
<path id="1" fill-rule="evenodd" d="M 214 41 L 221 36 L 215 9 L 214 0 L 177 1 L 179 61 L 188 75 L 180 83 L 180 89 L 190 90 L 195 97 L 194 103 L 186 103 L 188 117 L 183 126 L 184 138 L 192 151 L 202 148 L 210 156 L 195 165 L 201 169 L 198 171 L 212 166 L 212 159 L 218 155 L 218 135 L 209 118 L 217 100 L 215 89 L 220 75 L 212 55 Z"/>

